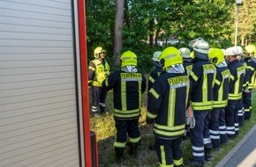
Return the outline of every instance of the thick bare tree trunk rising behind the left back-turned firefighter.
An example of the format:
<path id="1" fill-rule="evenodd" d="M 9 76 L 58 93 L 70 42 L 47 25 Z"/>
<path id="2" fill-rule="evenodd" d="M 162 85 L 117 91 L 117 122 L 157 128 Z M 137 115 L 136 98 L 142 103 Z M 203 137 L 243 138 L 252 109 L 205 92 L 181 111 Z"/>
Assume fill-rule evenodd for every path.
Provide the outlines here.
<path id="1" fill-rule="evenodd" d="M 115 34 L 114 34 L 114 61 L 120 63 L 120 54 L 123 47 L 122 29 L 124 26 L 124 0 L 116 0 Z"/>

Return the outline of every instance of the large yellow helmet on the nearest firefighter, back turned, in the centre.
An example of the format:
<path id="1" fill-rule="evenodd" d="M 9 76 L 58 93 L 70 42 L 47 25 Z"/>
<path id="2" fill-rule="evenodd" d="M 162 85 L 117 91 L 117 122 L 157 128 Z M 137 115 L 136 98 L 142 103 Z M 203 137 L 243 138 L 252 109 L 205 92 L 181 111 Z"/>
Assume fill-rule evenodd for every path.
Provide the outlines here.
<path id="1" fill-rule="evenodd" d="M 167 47 L 162 51 L 159 57 L 162 68 L 168 68 L 175 64 L 182 64 L 182 56 L 176 47 Z"/>

